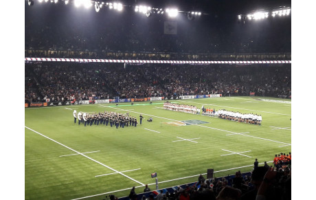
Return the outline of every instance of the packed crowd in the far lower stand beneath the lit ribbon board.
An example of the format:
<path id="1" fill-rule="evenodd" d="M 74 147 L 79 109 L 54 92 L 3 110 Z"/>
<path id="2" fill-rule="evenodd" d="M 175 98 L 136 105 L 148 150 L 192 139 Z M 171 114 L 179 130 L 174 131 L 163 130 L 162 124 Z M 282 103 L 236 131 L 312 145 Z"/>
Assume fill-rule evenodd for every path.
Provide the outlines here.
<path id="1" fill-rule="evenodd" d="M 25 63 L 28 102 L 249 92 L 291 96 L 291 66 Z"/>

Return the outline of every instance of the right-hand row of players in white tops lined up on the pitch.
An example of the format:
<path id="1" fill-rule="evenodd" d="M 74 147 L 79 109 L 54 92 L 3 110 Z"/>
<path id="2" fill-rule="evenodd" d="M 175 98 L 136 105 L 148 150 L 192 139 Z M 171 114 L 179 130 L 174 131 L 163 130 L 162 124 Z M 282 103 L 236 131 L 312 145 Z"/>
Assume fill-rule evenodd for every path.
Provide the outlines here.
<path id="1" fill-rule="evenodd" d="M 225 109 L 218 110 L 218 118 L 256 125 L 261 125 L 262 122 L 261 115 L 253 115 L 253 113 L 242 114 L 234 111 L 226 111 Z"/>

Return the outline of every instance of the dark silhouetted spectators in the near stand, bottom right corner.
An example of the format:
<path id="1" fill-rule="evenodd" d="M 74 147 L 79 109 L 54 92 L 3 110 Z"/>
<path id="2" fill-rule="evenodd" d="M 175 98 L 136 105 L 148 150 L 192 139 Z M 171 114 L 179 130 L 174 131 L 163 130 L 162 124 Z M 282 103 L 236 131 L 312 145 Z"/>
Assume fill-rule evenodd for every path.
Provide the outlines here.
<path id="1" fill-rule="evenodd" d="M 291 153 L 290 153 L 291 155 Z M 291 157 L 290 157 L 291 158 Z M 290 200 L 291 199 L 291 164 L 289 162 L 273 162 L 269 166 L 258 165 L 258 159 L 253 163 L 250 175 L 242 175 L 239 171 L 234 176 L 205 179 L 200 175 L 196 184 L 175 187 L 177 190 L 157 190 L 150 192 L 148 185 L 144 195 L 137 195 L 133 187 L 129 199 L 147 200 Z M 150 193 L 149 193 L 150 192 Z M 150 194 L 150 195 L 148 195 Z M 142 196 L 140 198 L 139 196 Z M 110 199 L 115 199 L 114 195 Z"/>

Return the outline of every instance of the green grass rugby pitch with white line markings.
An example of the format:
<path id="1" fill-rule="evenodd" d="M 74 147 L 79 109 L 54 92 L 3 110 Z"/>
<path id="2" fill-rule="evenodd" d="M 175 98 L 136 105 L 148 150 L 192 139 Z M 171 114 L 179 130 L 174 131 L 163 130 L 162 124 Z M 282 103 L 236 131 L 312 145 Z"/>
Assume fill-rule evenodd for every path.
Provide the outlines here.
<path id="1" fill-rule="evenodd" d="M 27 108 L 25 199 L 125 197 L 133 186 L 137 193 L 144 190 L 143 184 L 154 190 L 151 173 L 157 173 L 159 188 L 167 188 L 197 181 L 207 168 L 214 168 L 215 177 L 237 170 L 249 172 L 256 158 L 259 163 L 271 162 L 275 154 L 291 152 L 291 100 L 284 101 L 289 103 L 253 97 L 171 100 L 199 108 L 204 104 L 216 110 L 257 113 L 262 115 L 262 126 L 166 111 L 162 101 Z M 84 127 L 74 124 L 74 109 L 129 112 L 137 120 L 142 113 L 145 119 L 142 125 L 124 129 Z M 146 122 L 150 116 L 153 122 Z M 167 123 L 184 120 L 207 123 Z M 173 142 L 182 140 L 179 137 L 192 140 Z"/>

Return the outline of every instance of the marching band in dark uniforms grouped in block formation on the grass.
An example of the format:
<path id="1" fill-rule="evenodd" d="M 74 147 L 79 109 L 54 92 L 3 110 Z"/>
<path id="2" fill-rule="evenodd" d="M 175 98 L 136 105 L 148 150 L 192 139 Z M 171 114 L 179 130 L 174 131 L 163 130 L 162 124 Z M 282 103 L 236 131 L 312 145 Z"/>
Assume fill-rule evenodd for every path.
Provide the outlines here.
<path id="1" fill-rule="evenodd" d="M 84 124 L 84 126 L 92 126 L 94 125 L 106 125 L 108 126 L 116 126 L 124 128 L 124 126 L 137 126 L 138 122 L 136 117 L 130 116 L 129 113 L 115 113 L 104 111 L 104 113 L 83 113 L 79 112 L 77 115 L 77 111 L 74 110 L 74 123 L 76 124 L 78 118 L 78 125 Z"/>

